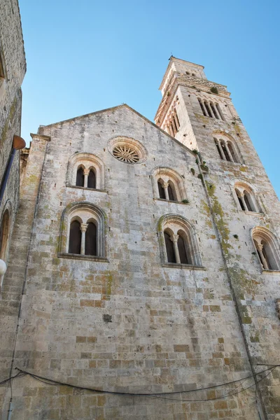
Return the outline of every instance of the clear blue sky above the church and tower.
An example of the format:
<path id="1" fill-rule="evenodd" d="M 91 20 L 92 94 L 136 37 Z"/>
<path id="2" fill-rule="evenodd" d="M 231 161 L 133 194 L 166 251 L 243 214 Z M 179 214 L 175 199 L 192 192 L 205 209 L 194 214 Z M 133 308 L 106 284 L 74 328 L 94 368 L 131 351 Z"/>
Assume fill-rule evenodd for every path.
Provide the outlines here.
<path id="1" fill-rule="evenodd" d="M 276 193 L 277 0 L 20 0 L 27 57 L 22 137 L 39 125 L 122 104 L 153 120 L 170 55 L 228 86 Z"/>

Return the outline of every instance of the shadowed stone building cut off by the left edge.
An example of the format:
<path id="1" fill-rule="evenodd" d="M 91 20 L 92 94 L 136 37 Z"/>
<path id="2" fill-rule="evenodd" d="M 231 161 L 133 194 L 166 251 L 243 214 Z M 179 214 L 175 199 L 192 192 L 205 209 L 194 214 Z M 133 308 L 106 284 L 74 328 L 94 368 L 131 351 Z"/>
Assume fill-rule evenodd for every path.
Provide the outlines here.
<path id="1" fill-rule="evenodd" d="M 25 50 L 18 1 L 3 0 L 0 7 L 0 185 L 3 182 L 12 151 L 13 136 L 14 134 L 20 135 L 22 107 L 20 87 L 25 71 Z M 8 262 L 10 237 L 19 202 L 19 161 L 20 152 L 17 151 L 3 200 L 0 202 L 0 226 L 3 225 L 5 211 L 8 215 L 6 226 L 3 227 L 5 230 L 4 243 L 0 246 L 0 258 L 6 262 Z M 0 286 L 1 281 L 0 276 Z M 0 307 L 2 310 L 1 304 Z"/>

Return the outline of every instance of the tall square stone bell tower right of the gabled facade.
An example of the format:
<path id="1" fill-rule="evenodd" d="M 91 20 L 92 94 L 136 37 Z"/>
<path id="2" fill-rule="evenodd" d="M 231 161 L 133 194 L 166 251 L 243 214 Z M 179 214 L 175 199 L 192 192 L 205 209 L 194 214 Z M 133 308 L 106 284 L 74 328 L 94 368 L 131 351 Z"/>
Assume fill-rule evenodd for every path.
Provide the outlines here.
<path id="1" fill-rule="evenodd" d="M 160 90 L 155 123 L 197 153 L 197 167 L 190 170 L 201 179 L 207 197 L 197 212 L 211 216 L 213 238 L 223 255 L 248 360 L 256 374 L 258 363 L 272 363 L 267 355 L 276 358 L 279 353 L 279 336 L 268 335 L 261 326 L 267 317 L 269 325 L 279 329 L 275 306 L 280 296 L 279 286 L 275 287 L 276 279 L 280 284 L 279 200 L 225 85 L 208 80 L 203 66 L 170 57 Z M 193 184 L 188 188 L 192 190 Z M 207 232 L 207 225 L 203 229 Z M 258 343 L 253 336 L 258 336 Z M 267 420 L 262 397 L 266 391 L 260 392 L 258 382 L 256 388 L 261 418 Z M 275 401 L 279 409 L 279 398 Z"/>

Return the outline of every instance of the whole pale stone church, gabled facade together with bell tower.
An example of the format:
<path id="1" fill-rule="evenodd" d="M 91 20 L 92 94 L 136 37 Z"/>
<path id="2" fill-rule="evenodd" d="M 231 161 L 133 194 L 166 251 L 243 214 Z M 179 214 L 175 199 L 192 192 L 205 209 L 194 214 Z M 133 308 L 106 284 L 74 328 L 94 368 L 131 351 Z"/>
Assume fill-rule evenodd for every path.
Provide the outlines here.
<path id="1" fill-rule="evenodd" d="M 3 419 L 280 419 L 279 368 L 260 373 L 280 362 L 279 202 L 226 87 L 172 57 L 162 92 L 158 126 L 122 105 L 32 134 L 1 371 L 81 388 L 19 376 Z M 77 186 L 91 167 L 96 188 Z M 83 248 L 91 220 L 97 255 L 69 253 L 70 223 Z"/>

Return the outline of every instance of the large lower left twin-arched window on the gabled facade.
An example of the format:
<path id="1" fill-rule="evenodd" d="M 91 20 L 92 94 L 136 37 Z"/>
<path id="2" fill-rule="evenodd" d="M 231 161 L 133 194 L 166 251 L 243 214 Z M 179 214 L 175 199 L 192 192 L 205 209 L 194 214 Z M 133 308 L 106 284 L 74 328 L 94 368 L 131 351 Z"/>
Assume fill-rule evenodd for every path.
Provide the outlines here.
<path id="1" fill-rule="evenodd" d="M 89 202 L 69 204 L 62 214 L 59 256 L 106 259 L 106 216 Z"/>

